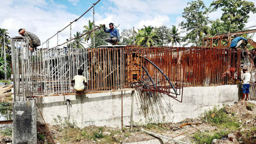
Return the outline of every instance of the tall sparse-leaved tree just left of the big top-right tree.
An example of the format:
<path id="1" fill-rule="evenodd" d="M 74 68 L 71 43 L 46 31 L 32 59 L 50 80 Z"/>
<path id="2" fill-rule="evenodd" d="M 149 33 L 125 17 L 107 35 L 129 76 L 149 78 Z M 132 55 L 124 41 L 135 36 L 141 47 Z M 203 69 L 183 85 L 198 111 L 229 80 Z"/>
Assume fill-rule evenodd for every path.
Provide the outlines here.
<path id="1" fill-rule="evenodd" d="M 182 13 L 182 17 L 186 21 L 180 23 L 182 29 L 187 31 L 183 41 L 187 41 L 185 45 L 192 43 L 198 46 L 198 37 L 208 24 L 208 14 L 211 12 L 211 9 L 207 8 L 201 0 L 188 2 L 187 4 L 189 6 Z"/>

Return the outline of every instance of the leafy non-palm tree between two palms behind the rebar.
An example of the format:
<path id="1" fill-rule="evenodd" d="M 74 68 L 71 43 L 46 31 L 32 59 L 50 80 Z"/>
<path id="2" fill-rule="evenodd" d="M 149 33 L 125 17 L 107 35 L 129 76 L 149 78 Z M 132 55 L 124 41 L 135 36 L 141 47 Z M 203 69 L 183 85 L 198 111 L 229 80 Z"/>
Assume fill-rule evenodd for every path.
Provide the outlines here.
<path id="1" fill-rule="evenodd" d="M 168 37 L 171 32 L 170 28 L 167 28 L 167 26 L 160 26 L 159 28 L 155 28 L 155 31 L 158 38 L 156 46 L 167 46 Z"/>

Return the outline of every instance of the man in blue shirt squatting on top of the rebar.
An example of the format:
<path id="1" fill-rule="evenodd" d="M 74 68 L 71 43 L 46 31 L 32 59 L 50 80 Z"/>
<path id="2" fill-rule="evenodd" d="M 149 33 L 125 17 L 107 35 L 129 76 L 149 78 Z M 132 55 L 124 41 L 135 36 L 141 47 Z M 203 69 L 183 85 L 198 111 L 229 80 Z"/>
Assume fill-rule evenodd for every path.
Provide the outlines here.
<path id="1" fill-rule="evenodd" d="M 120 40 L 119 32 L 116 28 L 114 28 L 113 23 L 109 24 L 109 28 L 110 29 L 106 30 L 106 27 L 104 26 L 104 32 L 110 33 L 110 38 L 105 38 L 105 41 L 111 43 L 112 45 L 116 45 Z"/>

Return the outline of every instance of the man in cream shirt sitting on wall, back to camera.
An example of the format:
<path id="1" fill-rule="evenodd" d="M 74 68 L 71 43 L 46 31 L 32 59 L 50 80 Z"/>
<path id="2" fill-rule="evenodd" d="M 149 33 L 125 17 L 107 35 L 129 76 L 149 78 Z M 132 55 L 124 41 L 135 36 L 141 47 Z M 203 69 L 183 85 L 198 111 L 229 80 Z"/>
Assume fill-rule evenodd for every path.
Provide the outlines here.
<path id="1" fill-rule="evenodd" d="M 86 86 L 87 84 L 87 80 L 83 75 L 83 71 L 82 69 L 78 69 L 77 73 L 78 75 L 74 76 L 73 80 L 71 81 L 71 83 L 75 83 L 74 89 L 76 91 L 76 93 L 79 92 L 86 92 Z"/>

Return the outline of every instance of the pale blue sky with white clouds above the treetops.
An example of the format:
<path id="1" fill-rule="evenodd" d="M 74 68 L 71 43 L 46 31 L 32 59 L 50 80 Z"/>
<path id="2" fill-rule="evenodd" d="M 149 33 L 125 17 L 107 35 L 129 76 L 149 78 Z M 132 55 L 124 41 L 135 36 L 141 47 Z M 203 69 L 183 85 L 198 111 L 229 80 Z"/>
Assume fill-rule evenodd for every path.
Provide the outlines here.
<path id="1" fill-rule="evenodd" d="M 0 27 L 8 29 L 11 37 L 17 36 L 19 28 L 35 33 L 44 42 L 57 31 L 78 18 L 97 0 L 0 0 Z M 101 0 L 95 6 L 96 25 L 113 22 L 119 25 L 119 31 L 138 29 L 143 25 L 159 27 L 179 25 L 183 9 L 191 0 Z M 254 3 L 256 0 L 250 0 Z M 211 0 L 204 0 L 209 6 Z M 220 18 L 221 10 L 209 14 L 210 19 Z M 246 27 L 255 25 L 255 16 L 248 19 Z M 72 24 L 72 35 L 83 31 L 83 26 L 93 20 L 93 11 L 89 11 L 76 23 Z M 59 43 L 69 38 L 69 28 L 59 33 Z M 183 33 L 182 35 L 185 35 Z M 57 38 L 50 40 L 50 47 L 55 46 Z"/>

